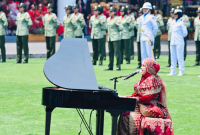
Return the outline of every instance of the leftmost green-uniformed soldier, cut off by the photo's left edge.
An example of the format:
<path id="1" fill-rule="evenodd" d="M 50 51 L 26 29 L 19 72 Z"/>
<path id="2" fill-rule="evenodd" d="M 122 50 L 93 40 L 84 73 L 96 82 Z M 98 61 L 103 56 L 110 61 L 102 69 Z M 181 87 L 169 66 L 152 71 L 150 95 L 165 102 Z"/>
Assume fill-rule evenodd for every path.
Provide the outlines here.
<path id="1" fill-rule="evenodd" d="M 3 12 L 3 6 L 0 5 L 0 49 L 2 62 L 6 62 L 6 49 L 5 49 L 5 28 L 8 26 L 6 15 Z"/>

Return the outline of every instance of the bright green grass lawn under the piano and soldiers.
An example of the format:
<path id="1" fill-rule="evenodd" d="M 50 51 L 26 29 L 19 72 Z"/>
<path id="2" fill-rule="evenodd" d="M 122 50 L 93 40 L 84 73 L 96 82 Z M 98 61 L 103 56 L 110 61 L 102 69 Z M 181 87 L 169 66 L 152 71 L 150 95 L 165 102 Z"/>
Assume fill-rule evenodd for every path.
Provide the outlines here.
<path id="1" fill-rule="evenodd" d="M 136 59 L 136 58 L 135 58 Z M 200 67 L 193 67 L 195 56 L 188 56 L 185 75 L 167 76 L 170 68 L 167 56 L 158 60 L 161 65 L 159 75 L 167 84 L 167 103 L 171 114 L 175 135 L 200 135 Z M 45 127 L 45 109 L 41 105 L 42 87 L 53 86 L 43 74 L 45 59 L 30 59 L 29 64 L 14 64 L 15 60 L 0 63 L 0 135 L 42 135 Z M 125 62 L 124 62 L 125 63 Z M 113 88 L 110 78 L 128 75 L 137 67 L 137 60 L 130 65 L 122 65 L 122 71 L 103 71 L 103 66 L 94 66 L 98 85 Z M 119 79 L 117 90 L 120 95 L 133 93 L 133 85 L 140 79 L 136 75 L 129 80 Z M 91 110 L 85 110 L 89 120 Z M 92 127 L 95 133 L 95 113 Z M 75 109 L 56 108 L 52 113 L 51 134 L 77 135 L 80 118 Z M 104 134 L 111 133 L 111 117 L 105 113 Z M 82 125 L 82 135 L 87 135 Z"/>

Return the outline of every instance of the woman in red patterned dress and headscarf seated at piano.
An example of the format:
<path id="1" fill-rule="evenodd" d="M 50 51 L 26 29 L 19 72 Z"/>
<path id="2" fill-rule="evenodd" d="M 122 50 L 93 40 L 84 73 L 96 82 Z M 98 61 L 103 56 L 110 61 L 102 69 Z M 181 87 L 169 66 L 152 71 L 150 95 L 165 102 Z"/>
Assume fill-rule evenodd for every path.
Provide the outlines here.
<path id="1" fill-rule="evenodd" d="M 142 78 L 134 85 L 134 112 L 120 116 L 117 135 L 173 135 L 172 120 L 166 103 L 165 83 L 158 76 L 160 65 L 151 58 L 143 61 Z"/>

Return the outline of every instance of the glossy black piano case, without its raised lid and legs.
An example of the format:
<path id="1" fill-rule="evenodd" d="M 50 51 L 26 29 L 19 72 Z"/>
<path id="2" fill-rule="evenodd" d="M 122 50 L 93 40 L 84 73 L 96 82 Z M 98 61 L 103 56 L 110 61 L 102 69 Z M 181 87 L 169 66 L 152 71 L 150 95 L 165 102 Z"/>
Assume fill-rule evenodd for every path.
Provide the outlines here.
<path id="1" fill-rule="evenodd" d="M 62 108 L 134 111 L 135 100 L 119 98 L 113 90 L 67 90 L 45 87 L 42 105 Z"/>

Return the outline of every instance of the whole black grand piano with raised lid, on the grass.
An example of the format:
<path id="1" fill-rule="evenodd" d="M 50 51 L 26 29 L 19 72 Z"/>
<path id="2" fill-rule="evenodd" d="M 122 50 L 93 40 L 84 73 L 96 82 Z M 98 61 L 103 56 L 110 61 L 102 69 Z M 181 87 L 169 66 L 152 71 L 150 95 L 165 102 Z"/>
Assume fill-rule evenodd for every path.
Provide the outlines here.
<path id="1" fill-rule="evenodd" d="M 111 114 L 111 134 L 116 135 L 118 116 L 135 110 L 136 99 L 122 98 L 114 89 L 98 87 L 84 39 L 63 39 L 58 52 L 46 61 L 44 74 L 56 85 L 42 90 L 42 105 L 46 106 L 45 135 L 50 134 L 51 113 L 56 107 L 97 110 L 96 135 L 103 135 L 104 111 Z"/>

